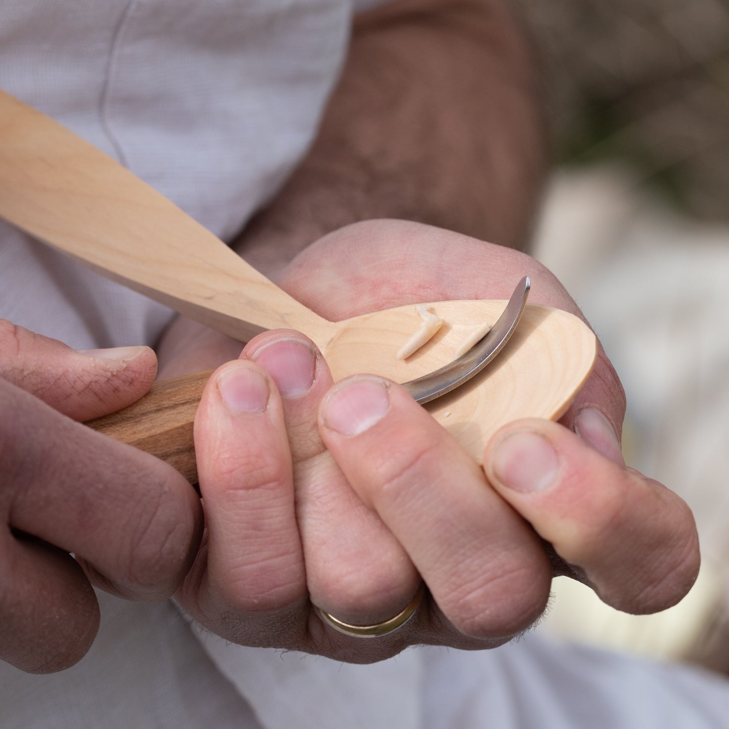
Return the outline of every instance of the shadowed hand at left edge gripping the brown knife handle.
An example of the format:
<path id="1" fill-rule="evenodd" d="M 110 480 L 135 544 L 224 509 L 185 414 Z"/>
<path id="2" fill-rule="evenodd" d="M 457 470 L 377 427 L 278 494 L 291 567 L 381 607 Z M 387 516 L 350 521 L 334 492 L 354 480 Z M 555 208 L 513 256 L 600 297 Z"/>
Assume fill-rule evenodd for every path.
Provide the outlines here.
<path id="1" fill-rule="evenodd" d="M 23 671 L 85 655 L 92 585 L 165 599 L 197 550 L 200 504 L 182 476 L 74 422 L 139 399 L 156 366 L 147 347 L 81 353 L 0 320 L 0 659 Z"/>

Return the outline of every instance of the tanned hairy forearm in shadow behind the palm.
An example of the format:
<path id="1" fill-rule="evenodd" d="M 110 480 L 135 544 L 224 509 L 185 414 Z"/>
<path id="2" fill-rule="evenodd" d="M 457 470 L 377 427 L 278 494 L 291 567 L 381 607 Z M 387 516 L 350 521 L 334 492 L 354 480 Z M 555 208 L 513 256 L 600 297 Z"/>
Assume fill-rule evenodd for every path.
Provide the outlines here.
<path id="1" fill-rule="evenodd" d="M 356 20 L 313 147 L 236 247 L 275 275 L 375 217 L 523 247 L 545 156 L 529 51 L 501 0 L 397 0 Z"/>

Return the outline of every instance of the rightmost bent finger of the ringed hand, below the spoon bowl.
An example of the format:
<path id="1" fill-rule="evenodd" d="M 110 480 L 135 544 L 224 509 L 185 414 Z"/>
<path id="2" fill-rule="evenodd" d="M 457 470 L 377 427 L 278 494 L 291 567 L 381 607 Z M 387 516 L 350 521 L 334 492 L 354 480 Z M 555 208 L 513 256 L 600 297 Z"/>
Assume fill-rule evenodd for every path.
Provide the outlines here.
<path id="1" fill-rule="evenodd" d="M 494 436 L 484 463 L 499 494 L 612 607 L 656 612 L 693 584 L 698 537 L 686 504 L 566 428 L 518 421 Z"/>

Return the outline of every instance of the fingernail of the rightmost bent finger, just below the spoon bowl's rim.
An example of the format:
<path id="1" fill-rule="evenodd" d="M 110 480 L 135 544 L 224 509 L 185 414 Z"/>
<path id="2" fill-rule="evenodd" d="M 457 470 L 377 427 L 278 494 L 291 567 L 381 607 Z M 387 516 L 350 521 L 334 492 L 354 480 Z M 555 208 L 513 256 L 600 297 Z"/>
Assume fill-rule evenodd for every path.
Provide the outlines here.
<path id="1" fill-rule="evenodd" d="M 559 461 L 545 437 L 533 432 L 517 432 L 507 435 L 496 445 L 489 466 L 503 486 L 529 494 L 552 485 Z"/>

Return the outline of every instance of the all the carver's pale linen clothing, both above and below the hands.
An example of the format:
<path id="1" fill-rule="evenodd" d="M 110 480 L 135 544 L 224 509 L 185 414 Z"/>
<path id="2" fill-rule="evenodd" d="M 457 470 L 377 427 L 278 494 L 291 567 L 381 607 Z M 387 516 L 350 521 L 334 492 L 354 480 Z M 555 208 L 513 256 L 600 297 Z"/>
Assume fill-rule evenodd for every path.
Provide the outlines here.
<path id="1" fill-rule="evenodd" d="M 313 139 L 353 10 L 381 1 L 2 0 L 0 87 L 230 240 Z M 172 314 L 0 222 L 0 316 L 94 348 L 154 344 Z M 77 666 L 0 663 L 0 727 L 729 726 L 720 679 L 536 636 L 350 666 L 228 644 L 171 601 L 98 596 L 101 628 Z"/>

